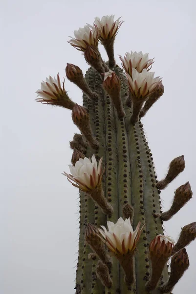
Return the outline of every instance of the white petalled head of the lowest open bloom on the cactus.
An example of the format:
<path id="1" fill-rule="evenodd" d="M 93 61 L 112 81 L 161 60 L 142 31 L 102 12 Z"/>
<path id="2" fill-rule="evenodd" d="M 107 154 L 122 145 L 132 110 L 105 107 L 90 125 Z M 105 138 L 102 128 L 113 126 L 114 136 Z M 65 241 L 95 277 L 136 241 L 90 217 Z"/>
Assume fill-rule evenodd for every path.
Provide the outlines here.
<path id="1" fill-rule="evenodd" d="M 134 251 L 137 245 L 143 228 L 140 229 L 140 224 L 139 222 L 133 231 L 130 218 L 125 221 L 120 218 L 116 223 L 107 221 L 108 231 L 103 225 L 101 226 L 103 230 L 99 229 L 99 231 L 110 251 L 117 255 L 126 254 Z"/>

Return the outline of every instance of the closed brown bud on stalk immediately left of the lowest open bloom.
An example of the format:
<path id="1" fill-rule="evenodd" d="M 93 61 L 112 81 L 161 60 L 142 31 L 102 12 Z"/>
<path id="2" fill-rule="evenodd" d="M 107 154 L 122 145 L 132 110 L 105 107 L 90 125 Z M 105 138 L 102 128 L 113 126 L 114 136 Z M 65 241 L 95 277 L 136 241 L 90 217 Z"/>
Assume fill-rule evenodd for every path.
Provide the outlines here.
<path id="1" fill-rule="evenodd" d="M 110 268 L 112 264 L 111 257 L 106 251 L 104 242 L 100 239 L 99 231 L 91 223 L 87 223 L 85 240 L 90 248 L 97 254 L 97 256 L 99 256 L 102 262 Z"/>

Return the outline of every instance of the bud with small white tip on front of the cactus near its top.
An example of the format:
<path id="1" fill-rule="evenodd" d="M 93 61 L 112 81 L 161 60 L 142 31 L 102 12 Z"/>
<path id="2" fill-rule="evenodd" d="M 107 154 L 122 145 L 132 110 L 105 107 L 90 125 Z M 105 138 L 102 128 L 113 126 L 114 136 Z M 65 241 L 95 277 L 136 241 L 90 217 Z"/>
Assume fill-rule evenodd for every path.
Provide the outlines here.
<path id="1" fill-rule="evenodd" d="M 109 94 L 119 118 L 123 118 L 125 116 L 125 111 L 120 97 L 121 81 L 117 74 L 111 70 L 109 70 L 108 73 L 105 73 L 103 87 Z"/>

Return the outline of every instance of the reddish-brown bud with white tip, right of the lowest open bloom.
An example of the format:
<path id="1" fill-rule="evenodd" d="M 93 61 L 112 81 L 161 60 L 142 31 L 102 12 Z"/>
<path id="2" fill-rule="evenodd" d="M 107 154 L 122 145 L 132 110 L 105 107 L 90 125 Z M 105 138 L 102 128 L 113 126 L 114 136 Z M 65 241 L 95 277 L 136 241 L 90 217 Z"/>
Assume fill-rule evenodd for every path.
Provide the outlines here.
<path id="1" fill-rule="evenodd" d="M 152 274 L 146 283 L 148 291 L 156 288 L 161 273 L 171 256 L 174 241 L 168 236 L 157 235 L 149 245 L 149 253 L 152 262 Z"/>

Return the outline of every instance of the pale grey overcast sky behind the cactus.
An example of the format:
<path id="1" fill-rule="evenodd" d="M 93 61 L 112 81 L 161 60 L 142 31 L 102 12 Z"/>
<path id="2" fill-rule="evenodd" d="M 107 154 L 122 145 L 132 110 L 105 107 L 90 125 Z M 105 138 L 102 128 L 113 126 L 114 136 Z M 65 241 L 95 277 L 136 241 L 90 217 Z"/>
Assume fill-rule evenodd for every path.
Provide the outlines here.
<path id="1" fill-rule="evenodd" d="M 158 178 L 184 154 L 185 171 L 162 192 L 170 208 L 174 190 L 190 181 L 193 199 L 165 223 L 177 241 L 180 227 L 196 221 L 196 4 L 194 0 L 7 0 L 0 3 L 0 294 L 74 293 L 78 246 L 78 191 L 68 171 L 68 142 L 77 128 L 69 110 L 34 101 L 49 75 L 65 76 L 66 62 L 87 64 L 67 43 L 94 17 L 122 16 L 115 56 L 142 50 L 155 57 L 164 96 L 143 122 Z M 103 57 L 106 54 L 103 52 Z M 65 80 L 69 96 L 82 92 Z M 187 247 L 190 268 L 174 294 L 194 293 L 196 243 Z"/>

